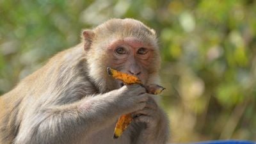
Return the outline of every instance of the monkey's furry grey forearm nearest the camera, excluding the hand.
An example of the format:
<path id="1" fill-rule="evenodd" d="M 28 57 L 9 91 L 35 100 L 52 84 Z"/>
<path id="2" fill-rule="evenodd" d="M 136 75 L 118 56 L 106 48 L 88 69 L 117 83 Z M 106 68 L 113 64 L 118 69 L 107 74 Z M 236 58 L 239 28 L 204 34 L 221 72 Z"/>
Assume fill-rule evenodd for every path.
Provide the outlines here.
<path id="1" fill-rule="evenodd" d="M 22 118 L 15 144 L 74 143 L 77 138 L 90 136 L 118 118 L 113 106 L 115 91 L 86 97 L 64 106 L 45 106 L 27 111 Z"/>

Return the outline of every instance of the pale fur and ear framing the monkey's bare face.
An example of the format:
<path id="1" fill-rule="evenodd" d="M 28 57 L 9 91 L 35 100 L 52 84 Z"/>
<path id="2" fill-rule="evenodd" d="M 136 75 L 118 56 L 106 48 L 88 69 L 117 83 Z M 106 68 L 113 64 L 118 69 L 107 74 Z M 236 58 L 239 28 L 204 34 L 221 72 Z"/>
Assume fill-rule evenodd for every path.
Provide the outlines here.
<path id="1" fill-rule="evenodd" d="M 95 82 L 100 92 L 112 90 L 115 85 L 107 75 L 106 68 L 109 56 L 106 54 L 106 47 L 113 40 L 120 40 L 126 37 L 138 38 L 144 44 L 154 47 L 153 63 L 150 65 L 149 79 L 150 83 L 158 83 L 158 71 L 160 67 L 159 47 L 157 45 L 156 31 L 150 29 L 145 24 L 134 19 L 111 19 L 96 28 L 83 32 L 84 45 L 88 48 L 89 76 Z M 87 49 L 86 48 L 86 49 Z M 112 85 L 111 85 L 112 84 Z"/>

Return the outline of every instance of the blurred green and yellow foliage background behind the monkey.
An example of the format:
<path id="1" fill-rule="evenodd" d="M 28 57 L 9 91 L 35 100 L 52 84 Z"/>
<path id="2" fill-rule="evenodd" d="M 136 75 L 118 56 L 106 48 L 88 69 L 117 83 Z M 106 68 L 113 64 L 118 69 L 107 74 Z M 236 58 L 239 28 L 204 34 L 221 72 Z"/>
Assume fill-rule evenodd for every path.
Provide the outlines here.
<path id="1" fill-rule="evenodd" d="M 173 143 L 256 140 L 252 0 L 0 0 L 0 95 L 113 17 L 157 31 Z"/>

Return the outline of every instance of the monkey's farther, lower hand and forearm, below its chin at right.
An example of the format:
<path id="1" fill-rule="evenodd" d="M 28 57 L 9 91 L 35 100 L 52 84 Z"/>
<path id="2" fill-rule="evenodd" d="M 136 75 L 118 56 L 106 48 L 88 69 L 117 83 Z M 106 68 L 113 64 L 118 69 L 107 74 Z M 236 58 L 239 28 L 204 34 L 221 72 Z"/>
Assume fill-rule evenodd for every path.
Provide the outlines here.
<path id="1" fill-rule="evenodd" d="M 135 123 L 145 124 L 136 143 L 166 143 L 168 140 L 168 120 L 156 101 L 149 96 L 145 108 L 132 113 Z"/>

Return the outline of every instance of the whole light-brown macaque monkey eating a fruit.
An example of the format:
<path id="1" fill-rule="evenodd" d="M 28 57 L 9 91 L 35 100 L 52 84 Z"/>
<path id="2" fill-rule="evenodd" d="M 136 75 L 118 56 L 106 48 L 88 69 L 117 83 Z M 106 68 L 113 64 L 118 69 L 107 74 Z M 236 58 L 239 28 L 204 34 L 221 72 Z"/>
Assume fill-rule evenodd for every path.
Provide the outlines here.
<path id="1" fill-rule="evenodd" d="M 0 97 L 1 144 L 134 143 L 168 140 L 168 120 L 139 84 L 124 85 L 106 68 L 157 83 L 156 34 L 134 19 L 111 19 L 82 33 L 81 44 L 62 51 Z M 132 124 L 114 140 L 120 115 Z"/>

